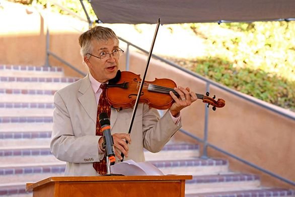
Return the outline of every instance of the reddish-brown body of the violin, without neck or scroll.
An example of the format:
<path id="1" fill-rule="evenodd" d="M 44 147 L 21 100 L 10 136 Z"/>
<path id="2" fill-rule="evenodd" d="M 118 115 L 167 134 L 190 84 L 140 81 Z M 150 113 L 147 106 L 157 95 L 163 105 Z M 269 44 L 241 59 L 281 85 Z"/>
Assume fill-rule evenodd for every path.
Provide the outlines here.
<path id="1" fill-rule="evenodd" d="M 135 104 L 141 78 L 139 74 L 129 71 L 122 71 L 119 81 L 115 85 L 108 85 L 106 96 L 113 108 L 126 109 L 132 108 Z M 176 83 L 171 79 L 155 79 L 154 81 L 144 81 L 142 91 L 140 93 L 139 103 L 145 103 L 151 108 L 158 110 L 169 109 L 174 100 L 167 92 L 159 93 L 155 90 L 158 84 L 168 88 L 176 87 Z"/>

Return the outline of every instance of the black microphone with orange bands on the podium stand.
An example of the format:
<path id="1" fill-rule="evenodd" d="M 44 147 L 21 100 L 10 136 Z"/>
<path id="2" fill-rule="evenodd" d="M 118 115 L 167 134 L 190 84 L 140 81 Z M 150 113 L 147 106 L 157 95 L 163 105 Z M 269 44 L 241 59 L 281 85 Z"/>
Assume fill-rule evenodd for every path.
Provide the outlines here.
<path id="1" fill-rule="evenodd" d="M 114 141 L 113 136 L 111 135 L 111 126 L 110 119 L 108 114 L 103 112 L 99 114 L 99 124 L 101 125 L 101 130 L 103 132 L 103 147 L 106 150 L 106 156 L 109 157 L 110 164 L 114 165 L 116 162 L 115 153 L 114 153 Z"/>

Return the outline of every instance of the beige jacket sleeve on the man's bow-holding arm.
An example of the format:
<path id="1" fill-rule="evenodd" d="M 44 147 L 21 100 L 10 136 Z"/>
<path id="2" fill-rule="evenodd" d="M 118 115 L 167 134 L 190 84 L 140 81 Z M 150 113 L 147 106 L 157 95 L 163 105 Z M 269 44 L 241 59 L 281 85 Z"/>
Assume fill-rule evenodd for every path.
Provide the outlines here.
<path id="1" fill-rule="evenodd" d="M 75 116 L 70 116 L 62 96 L 54 95 L 53 128 L 50 142 L 52 154 L 59 160 L 71 163 L 96 162 L 103 158 L 98 153 L 100 136 L 75 136 L 73 124 Z M 81 123 L 83 124 L 83 123 Z"/>

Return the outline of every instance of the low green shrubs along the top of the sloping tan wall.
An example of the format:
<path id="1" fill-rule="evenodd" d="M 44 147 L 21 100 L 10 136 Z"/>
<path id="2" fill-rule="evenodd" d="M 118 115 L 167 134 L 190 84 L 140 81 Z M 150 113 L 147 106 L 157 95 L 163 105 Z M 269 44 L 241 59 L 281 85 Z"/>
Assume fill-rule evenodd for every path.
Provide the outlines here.
<path id="1" fill-rule="evenodd" d="M 235 68 L 233 63 L 219 58 L 172 60 L 183 66 L 190 65 L 192 71 L 230 88 L 295 111 L 295 81 L 261 69 Z"/>

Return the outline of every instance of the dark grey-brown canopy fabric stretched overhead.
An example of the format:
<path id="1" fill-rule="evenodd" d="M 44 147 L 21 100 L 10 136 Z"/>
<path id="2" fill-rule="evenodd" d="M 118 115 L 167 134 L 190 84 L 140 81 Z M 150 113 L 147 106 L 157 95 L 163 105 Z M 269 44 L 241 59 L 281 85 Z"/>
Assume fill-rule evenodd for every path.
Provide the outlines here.
<path id="1" fill-rule="evenodd" d="M 251 22 L 295 18 L 295 0 L 92 0 L 103 23 Z"/>

